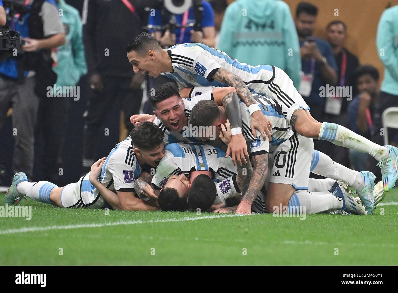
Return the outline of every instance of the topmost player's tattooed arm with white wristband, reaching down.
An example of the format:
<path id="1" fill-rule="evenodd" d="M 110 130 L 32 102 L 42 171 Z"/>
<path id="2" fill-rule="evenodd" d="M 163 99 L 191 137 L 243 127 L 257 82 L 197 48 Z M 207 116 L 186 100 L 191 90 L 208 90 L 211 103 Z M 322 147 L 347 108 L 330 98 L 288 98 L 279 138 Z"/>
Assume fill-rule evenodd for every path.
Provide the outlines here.
<path id="1" fill-rule="evenodd" d="M 257 106 L 256 101 L 254 100 L 252 93 L 249 88 L 246 86 L 244 81 L 234 75 L 232 72 L 226 70 L 225 68 L 219 68 L 216 73 L 212 77 L 214 80 L 219 81 L 220 83 L 225 83 L 230 87 L 234 87 L 236 89 L 236 93 L 239 98 L 246 104 L 246 106 L 250 110 L 250 114 L 252 115 L 252 123 L 250 128 L 252 129 L 252 134 L 254 137 L 257 136 L 256 129 L 260 132 L 263 139 L 266 140 L 267 136 L 271 141 L 271 122 L 263 115 L 260 108 Z M 250 107 L 251 105 L 255 105 Z M 256 109 L 254 109 L 256 108 Z"/>

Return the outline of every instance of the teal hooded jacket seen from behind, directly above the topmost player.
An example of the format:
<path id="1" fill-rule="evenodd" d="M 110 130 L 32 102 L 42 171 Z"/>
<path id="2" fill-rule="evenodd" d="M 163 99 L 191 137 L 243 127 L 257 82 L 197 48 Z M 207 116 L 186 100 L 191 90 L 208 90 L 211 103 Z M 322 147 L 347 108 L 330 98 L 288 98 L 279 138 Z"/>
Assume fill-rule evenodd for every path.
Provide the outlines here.
<path id="1" fill-rule="evenodd" d="M 300 44 L 289 6 L 280 0 L 236 0 L 226 9 L 219 47 L 252 66 L 274 65 L 300 85 Z"/>

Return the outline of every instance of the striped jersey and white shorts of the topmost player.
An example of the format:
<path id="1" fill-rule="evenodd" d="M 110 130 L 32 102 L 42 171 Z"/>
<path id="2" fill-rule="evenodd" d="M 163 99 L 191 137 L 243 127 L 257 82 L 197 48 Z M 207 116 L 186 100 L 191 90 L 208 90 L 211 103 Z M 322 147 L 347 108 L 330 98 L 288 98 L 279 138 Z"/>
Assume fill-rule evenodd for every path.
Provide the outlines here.
<path id="1" fill-rule="evenodd" d="M 226 87 L 226 84 L 213 80 L 213 75 L 223 67 L 239 76 L 250 91 L 275 100 L 288 121 L 298 108 L 309 109 L 289 76 L 277 67 L 241 63 L 201 43 L 174 45 L 167 52 L 172 60 L 173 72 L 166 72 L 165 75 L 174 79 L 180 89 L 210 85 Z"/>

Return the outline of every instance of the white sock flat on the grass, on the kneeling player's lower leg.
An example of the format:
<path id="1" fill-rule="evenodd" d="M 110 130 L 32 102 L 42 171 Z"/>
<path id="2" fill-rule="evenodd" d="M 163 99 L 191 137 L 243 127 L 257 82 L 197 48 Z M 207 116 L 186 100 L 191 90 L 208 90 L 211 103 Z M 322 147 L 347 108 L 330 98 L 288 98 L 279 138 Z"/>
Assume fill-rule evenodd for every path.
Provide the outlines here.
<path id="1" fill-rule="evenodd" d="M 291 206 L 305 206 L 306 213 L 316 214 L 341 208 L 343 202 L 339 202 L 337 197 L 328 191 L 310 193 L 306 190 L 298 190 L 289 200 L 289 207 Z"/>

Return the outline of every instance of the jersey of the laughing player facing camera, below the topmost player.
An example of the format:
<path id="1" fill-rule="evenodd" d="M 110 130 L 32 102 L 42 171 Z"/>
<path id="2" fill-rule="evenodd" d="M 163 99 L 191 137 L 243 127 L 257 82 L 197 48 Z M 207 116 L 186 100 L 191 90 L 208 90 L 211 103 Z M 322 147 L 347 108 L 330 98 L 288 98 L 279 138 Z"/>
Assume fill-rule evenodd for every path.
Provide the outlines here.
<path id="1" fill-rule="evenodd" d="M 189 117 L 191 116 L 191 110 L 193 108 L 193 106 L 195 106 L 195 104 L 197 102 L 199 102 L 200 100 L 213 100 L 213 95 L 209 94 L 209 88 L 211 87 L 203 87 L 203 92 L 206 91 L 206 94 L 202 94 L 202 92 L 195 92 L 193 93 L 191 90 L 191 93 L 189 94 L 189 98 L 183 98 L 182 101 L 184 103 L 184 112 L 185 112 L 185 116 L 187 116 L 188 118 L 188 125 L 189 125 Z M 189 136 L 184 136 L 184 130 L 182 130 L 181 132 L 174 132 L 171 131 L 170 129 L 168 129 L 166 127 L 166 125 L 164 125 L 164 123 L 162 122 L 162 120 L 160 120 L 158 117 L 156 117 L 153 121 L 154 124 L 156 124 L 156 126 L 158 126 L 160 128 L 160 130 L 162 130 L 163 134 L 164 134 L 164 139 L 163 142 L 165 144 L 165 146 L 167 146 L 168 144 L 172 144 L 175 142 L 199 142 L 198 138 L 194 138 L 194 137 L 189 137 Z"/>

